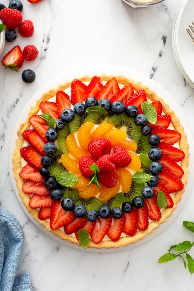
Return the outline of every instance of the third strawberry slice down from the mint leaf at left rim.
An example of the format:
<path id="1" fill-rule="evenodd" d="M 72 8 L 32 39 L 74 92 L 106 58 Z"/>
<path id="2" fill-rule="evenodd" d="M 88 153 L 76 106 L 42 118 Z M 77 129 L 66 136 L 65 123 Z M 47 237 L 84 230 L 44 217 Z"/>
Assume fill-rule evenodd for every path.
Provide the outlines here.
<path id="1" fill-rule="evenodd" d="M 27 163 L 35 168 L 39 169 L 43 166 L 40 161 L 42 156 L 39 155 L 38 152 L 36 152 L 30 145 L 21 148 L 20 155 Z"/>

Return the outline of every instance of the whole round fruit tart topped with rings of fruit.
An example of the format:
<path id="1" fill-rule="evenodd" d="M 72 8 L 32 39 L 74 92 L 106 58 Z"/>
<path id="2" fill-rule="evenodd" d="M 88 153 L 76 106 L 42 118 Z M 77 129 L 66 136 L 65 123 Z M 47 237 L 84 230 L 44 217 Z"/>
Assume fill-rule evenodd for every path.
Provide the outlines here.
<path id="1" fill-rule="evenodd" d="M 31 107 L 13 171 L 46 230 L 108 249 L 143 239 L 172 214 L 188 157 L 184 128 L 155 92 L 124 76 L 86 75 Z"/>

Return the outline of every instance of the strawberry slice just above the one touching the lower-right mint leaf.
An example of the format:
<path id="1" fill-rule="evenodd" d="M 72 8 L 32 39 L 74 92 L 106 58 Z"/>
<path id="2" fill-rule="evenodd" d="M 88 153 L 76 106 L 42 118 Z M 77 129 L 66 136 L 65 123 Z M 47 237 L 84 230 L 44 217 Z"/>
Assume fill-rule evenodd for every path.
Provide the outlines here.
<path id="1" fill-rule="evenodd" d="M 157 176 L 159 181 L 165 185 L 169 193 L 173 193 L 184 188 L 183 182 L 179 180 L 179 178 L 168 168 L 163 167 L 161 173 Z"/>

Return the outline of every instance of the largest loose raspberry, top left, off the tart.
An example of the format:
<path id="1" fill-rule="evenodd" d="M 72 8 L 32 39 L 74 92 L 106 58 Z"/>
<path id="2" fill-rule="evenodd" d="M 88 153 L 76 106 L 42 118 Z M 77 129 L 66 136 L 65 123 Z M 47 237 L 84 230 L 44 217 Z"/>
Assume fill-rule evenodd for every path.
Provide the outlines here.
<path id="1" fill-rule="evenodd" d="M 7 29 L 15 29 L 22 22 L 22 13 L 17 9 L 4 8 L 0 11 L 0 17 Z"/>

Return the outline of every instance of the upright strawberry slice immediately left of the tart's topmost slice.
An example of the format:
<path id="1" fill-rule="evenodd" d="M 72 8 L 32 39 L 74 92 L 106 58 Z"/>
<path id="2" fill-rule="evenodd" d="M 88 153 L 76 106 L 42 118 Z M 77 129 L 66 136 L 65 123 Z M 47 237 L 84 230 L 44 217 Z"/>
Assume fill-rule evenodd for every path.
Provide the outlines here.
<path id="1" fill-rule="evenodd" d="M 75 105 L 77 102 L 84 102 L 84 93 L 87 86 L 78 79 L 74 79 L 71 83 L 71 102 Z"/>

